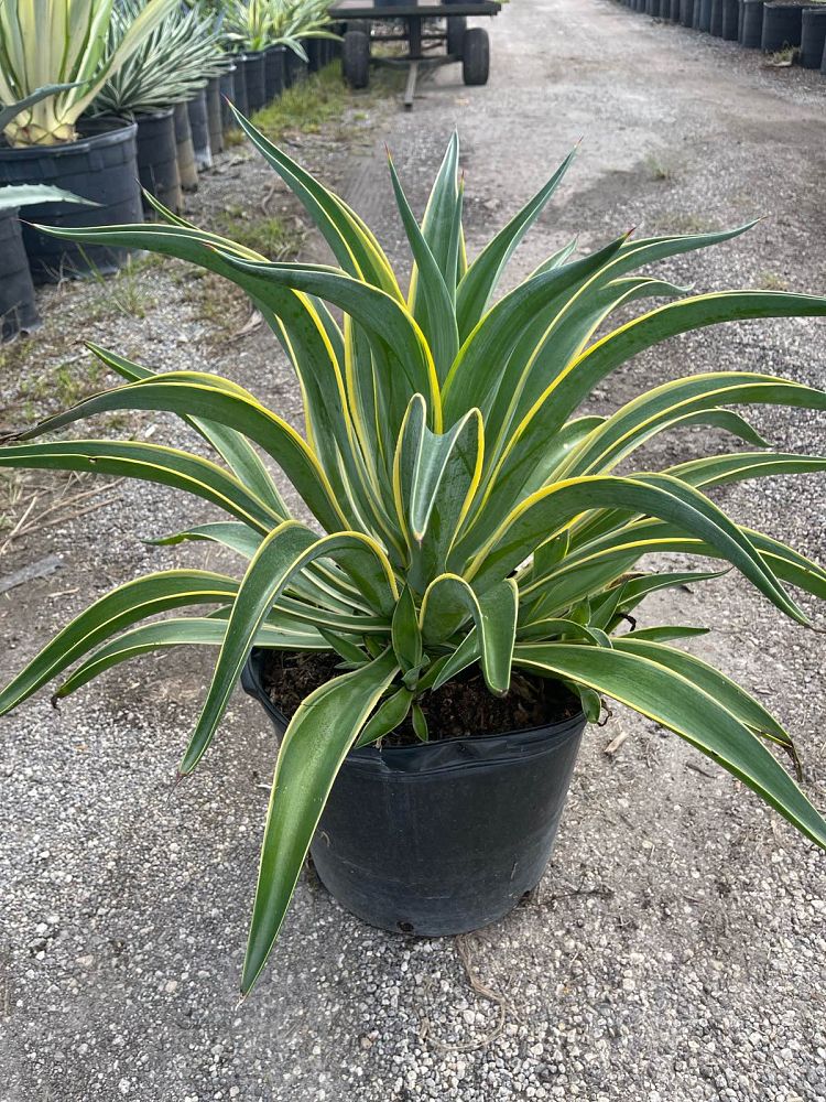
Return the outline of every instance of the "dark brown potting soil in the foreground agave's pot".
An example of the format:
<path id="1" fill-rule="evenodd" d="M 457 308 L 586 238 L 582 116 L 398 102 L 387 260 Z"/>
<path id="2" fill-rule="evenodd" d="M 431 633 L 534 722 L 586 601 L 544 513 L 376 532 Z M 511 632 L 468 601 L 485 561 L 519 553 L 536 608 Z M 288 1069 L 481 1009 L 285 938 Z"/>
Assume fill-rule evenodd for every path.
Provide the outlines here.
<path id="1" fill-rule="evenodd" d="M 273 704 L 290 719 L 314 689 L 341 673 L 337 655 L 271 650 L 263 662 L 263 684 Z M 514 672 L 506 696 L 493 696 L 481 671 L 474 667 L 436 692 L 420 698 L 431 742 L 468 735 L 496 735 L 559 723 L 576 715 L 579 702 L 561 682 Z M 407 717 L 384 737 L 391 746 L 411 746 L 419 739 Z"/>

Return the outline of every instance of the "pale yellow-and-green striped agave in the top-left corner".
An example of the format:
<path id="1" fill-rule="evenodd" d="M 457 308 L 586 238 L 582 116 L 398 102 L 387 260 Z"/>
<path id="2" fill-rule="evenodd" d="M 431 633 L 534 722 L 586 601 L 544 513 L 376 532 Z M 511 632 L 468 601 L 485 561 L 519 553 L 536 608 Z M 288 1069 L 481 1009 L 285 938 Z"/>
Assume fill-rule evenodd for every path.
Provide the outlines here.
<path id="1" fill-rule="evenodd" d="M 149 0 L 111 50 L 113 0 L 14 0 L 0 4 L 0 104 L 29 100 L 6 121 L 11 145 L 74 141 L 98 90 L 178 0 Z M 48 96 L 37 89 L 62 85 Z"/>

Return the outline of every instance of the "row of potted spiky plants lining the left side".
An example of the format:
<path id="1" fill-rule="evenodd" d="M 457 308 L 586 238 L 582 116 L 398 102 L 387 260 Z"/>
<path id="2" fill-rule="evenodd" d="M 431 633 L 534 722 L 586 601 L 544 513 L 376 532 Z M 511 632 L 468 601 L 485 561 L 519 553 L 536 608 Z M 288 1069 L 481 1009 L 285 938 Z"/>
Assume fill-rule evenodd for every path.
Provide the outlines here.
<path id="1" fill-rule="evenodd" d="M 80 249 L 18 222 L 137 222 L 152 196 L 180 213 L 235 126 L 335 39 L 328 0 L 19 0 L 0 6 L 0 323 L 37 324 L 34 284 L 116 271 L 126 250 Z M 35 17 L 44 33 L 35 28 Z M 70 47 L 65 48 L 66 42 Z M 34 83 L 42 87 L 33 87 Z M 221 97 L 225 97 L 222 100 Z M 144 188 L 143 196 L 141 186 Z M 58 191 L 56 192 L 55 188 Z M 58 194 L 59 193 L 59 194 Z M 64 193 L 86 201 L 83 213 Z M 39 197 L 40 196 L 40 197 Z"/>

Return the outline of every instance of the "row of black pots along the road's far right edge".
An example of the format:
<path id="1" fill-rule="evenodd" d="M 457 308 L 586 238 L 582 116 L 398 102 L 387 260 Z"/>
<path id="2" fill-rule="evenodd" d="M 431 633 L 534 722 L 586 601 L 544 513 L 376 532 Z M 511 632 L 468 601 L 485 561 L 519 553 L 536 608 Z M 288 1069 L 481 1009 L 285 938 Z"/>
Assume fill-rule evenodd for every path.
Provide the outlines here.
<path id="1" fill-rule="evenodd" d="M 633 11 L 765 53 L 794 51 L 826 74 L 826 0 L 619 0 Z"/>

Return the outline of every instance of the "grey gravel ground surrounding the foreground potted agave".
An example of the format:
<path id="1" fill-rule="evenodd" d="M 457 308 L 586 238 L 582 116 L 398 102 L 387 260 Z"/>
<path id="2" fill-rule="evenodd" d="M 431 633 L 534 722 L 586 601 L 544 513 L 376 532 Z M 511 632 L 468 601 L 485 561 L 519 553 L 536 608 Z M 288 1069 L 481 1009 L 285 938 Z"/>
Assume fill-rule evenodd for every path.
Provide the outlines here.
<path id="1" fill-rule="evenodd" d="M 826 82 L 608 0 L 520 0 L 491 31 L 487 88 L 465 89 L 446 69 L 412 114 L 372 120 L 420 207 L 458 121 L 471 251 L 584 134 L 514 276 L 575 231 L 590 246 L 631 225 L 686 231 L 765 215 L 746 238 L 664 270 L 703 289 L 823 290 Z M 324 138 L 304 152 L 396 253 L 381 145 L 366 132 L 367 153 Z M 235 156 L 207 184 L 207 204 L 265 194 L 260 170 Z M 91 324 L 97 339 L 154 366 L 208 363 L 295 417 L 273 342 L 233 335 L 246 317 L 233 300 L 229 332 L 224 317 L 222 327 L 205 321 L 204 300 L 176 279 L 152 269 L 146 317 L 107 314 Z M 88 292 L 63 293 L 24 382 L 66 356 L 59 329 L 88 335 Z M 597 407 L 717 367 L 823 382 L 825 349 L 823 323 L 709 329 L 640 356 Z M 10 380 L 7 390 L 19 400 Z M 48 406 L 45 390 L 36 402 Z M 824 451 L 823 418 L 752 420 L 779 447 Z M 154 439 L 180 439 L 164 418 L 144 419 L 151 426 Z M 685 432 L 661 439 L 646 462 L 718 445 Z M 50 501 L 56 486 L 78 491 L 37 485 Z M 782 478 L 719 500 L 823 561 L 825 487 Z M 1 598 L 3 678 L 137 569 L 204 561 L 139 542 L 200 519 L 197 506 L 126 484 L 109 495 L 109 506 L 93 498 L 87 515 L 23 536 L 0 559 L 2 573 L 48 553 L 64 561 Z M 652 620 L 718 629 L 697 652 L 790 725 L 805 787 L 826 803 L 820 637 L 731 577 L 652 604 Z M 524 906 L 477 936 L 406 940 L 361 925 L 304 877 L 269 971 L 237 1006 L 273 745 L 239 693 L 197 776 L 173 790 L 207 670 L 198 655 L 143 659 L 59 712 L 40 698 L 0 723 L 2 1102 L 826 1096 L 823 856 L 676 737 L 619 709 L 591 728 L 553 863 Z"/>

